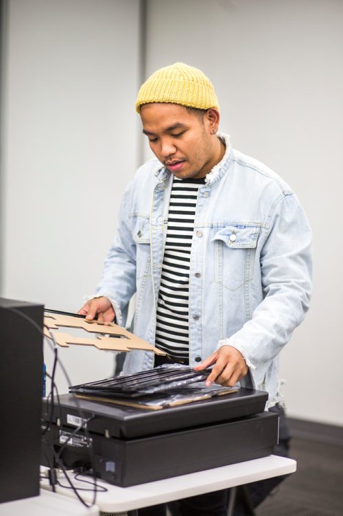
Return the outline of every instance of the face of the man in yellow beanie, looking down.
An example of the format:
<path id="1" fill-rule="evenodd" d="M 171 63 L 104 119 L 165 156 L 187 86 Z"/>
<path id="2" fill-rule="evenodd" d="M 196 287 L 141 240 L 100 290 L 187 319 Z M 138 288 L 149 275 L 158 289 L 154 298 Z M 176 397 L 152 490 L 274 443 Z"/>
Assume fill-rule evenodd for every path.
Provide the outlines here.
<path id="1" fill-rule="evenodd" d="M 143 133 L 150 148 L 175 177 L 204 177 L 217 164 L 219 140 L 212 132 L 217 122 L 211 120 L 211 111 L 215 110 L 206 111 L 200 119 L 178 104 L 141 106 Z"/>

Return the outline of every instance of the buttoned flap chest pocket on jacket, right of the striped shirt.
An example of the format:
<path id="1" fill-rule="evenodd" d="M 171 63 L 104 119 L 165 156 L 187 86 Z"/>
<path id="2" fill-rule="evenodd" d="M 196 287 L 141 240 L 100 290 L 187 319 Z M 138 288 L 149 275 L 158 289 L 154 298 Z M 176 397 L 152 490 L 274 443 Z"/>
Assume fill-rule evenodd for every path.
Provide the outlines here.
<path id="1" fill-rule="evenodd" d="M 227 225 L 211 238 L 215 282 L 235 291 L 252 280 L 259 227 Z"/>

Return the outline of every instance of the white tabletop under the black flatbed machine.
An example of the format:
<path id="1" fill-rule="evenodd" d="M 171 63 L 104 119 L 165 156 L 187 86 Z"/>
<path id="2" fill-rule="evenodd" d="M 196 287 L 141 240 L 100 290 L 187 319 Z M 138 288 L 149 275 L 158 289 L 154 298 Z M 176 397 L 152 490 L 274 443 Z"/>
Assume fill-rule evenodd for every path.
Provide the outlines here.
<path id="1" fill-rule="evenodd" d="M 295 460 L 270 455 L 260 459 L 247 460 L 238 464 L 230 464 L 229 466 L 207 469 L 206 471 L 198 471 L 198 473 L 189 473 L 132 487 L 117 487 L 98 480 L 99 486 L 105 486 L 107 491 L 106 493 L 97 493 L 96 504 L 100 511 L 108 513 L 133 511 L 141 507 L 286 475 L 287 473 L 294 473 L 294 471 L 296 471 Z M 73 477 L 73 475 L 71 476 Z M 89 477 L 81 478 L 90 480 Z M 84 487 L 84 484 L 82 485 L 75 480 L 75 486 Z M 51 489 L 46 480 L 41 482 L 41 487 Z M 75 497 L 71 489 L 56 486 L 56 492 Z M 81 491 L 80 494 L 87 502 L 93 500 L 93 493 L 91 492 Z"/>

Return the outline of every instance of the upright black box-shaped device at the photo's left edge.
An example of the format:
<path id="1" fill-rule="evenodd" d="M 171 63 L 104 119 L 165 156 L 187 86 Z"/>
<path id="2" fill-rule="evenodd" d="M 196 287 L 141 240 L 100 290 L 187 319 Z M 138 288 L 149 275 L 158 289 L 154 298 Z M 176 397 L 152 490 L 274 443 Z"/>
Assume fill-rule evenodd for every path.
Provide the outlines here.
<path id="1" fill-rule="evenodd" d="M 39 495 L 43 309 L 0 298 L 0 502 Z"/>

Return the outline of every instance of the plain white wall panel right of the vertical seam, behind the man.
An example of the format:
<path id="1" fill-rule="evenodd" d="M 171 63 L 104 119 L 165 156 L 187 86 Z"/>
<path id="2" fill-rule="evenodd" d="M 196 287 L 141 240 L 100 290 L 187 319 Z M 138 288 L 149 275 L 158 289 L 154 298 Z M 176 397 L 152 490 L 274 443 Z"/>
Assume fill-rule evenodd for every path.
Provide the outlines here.
<path id="1" fill-rule="evenodd" d="M 314 230 L 314 296 L 281 354 L 291 416 L 343 425 L 343 2 L 147 1 L 147 75 L 184 61 L 220 100 L 220 128 L 294 188 Z"/>

